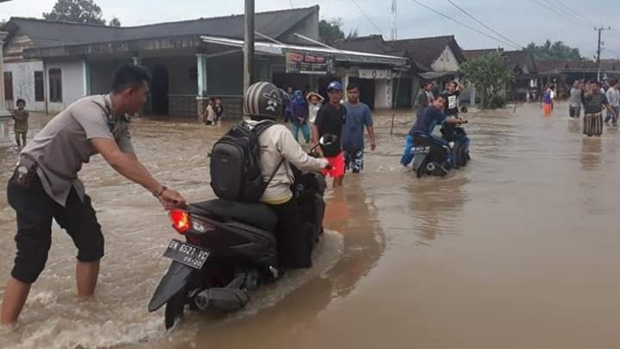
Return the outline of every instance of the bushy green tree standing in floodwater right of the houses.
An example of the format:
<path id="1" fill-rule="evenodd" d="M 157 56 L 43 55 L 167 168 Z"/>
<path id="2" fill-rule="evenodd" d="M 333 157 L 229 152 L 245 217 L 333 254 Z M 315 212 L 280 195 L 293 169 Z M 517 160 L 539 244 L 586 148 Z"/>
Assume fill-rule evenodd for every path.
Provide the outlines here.
<path id="1" fill-rule="evenodd" d="M 482 109 L 505 106 L 505 92 L 515 82 L 515 75 L 502 55 L 492 53 L 466 61 L 461 65 L 461 73 L 467 83 L 480 91 Z"/>

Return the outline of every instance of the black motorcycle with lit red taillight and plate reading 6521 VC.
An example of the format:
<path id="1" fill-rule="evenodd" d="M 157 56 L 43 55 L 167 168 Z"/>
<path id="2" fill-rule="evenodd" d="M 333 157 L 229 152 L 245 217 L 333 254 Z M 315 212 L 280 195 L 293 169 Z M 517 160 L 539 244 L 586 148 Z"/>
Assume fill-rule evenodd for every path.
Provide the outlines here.
<path id="1" fill-rule="evenodd" d="M 329 142 L 322 138 L 319 144 Z M 319 156 L 317 147 L 311 156 Z M 291 168 L 294 200 L 314 246 L 323 233 L 325 178 Z M 172 209 L 169 219 L 185 241 L 173 238 L 167 245 L 164 256 L 172 263 L 148 304 L 149 312 L 166 305 L 166 329 L 183 317 L 186 307 L 220 313 L 241 310 L 249 302 L 249 291 L 281 278 L 278 217 L 267 204 L 212 199 Z"/>

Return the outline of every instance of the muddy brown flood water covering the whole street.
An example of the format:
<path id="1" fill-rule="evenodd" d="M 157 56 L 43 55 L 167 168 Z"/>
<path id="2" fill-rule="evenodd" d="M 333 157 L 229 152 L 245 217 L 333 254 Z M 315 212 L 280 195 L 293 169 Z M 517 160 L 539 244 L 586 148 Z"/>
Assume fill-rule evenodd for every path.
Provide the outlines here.
<path id="1" fill-rule="evenodd" d="M 142 188 L 95 157 L 82 178 L 107 238 L 94 301 L 74 299 L 71 240 L 0 348 L 613 348 L 620 313 L 620 134 L 584 138 L 567 106 L 471 112 L 472 161 L 446 178 L 398 165 L 412 113 L 375 116 L 365 173 L 328 193 L 315 266 L 254 294 L 240 314 L 189 314 L 164 333 L 146 304 L 175 233 Z M 32 129 L 45 119 L 34 118 Z M 139 158 L 171 188 L 213 196 L 206 152 L 224 131 L 136 120 Z M 16 150 L 2 150 L 8 178 Z M 3 182 L 4 183 L 4 182 Z M 0 283 L 15 222 L 0 186 Z M 3 287 L 3 286 L 1 286 Z M 3 291 L 0 291 L 0 294 Z"/>

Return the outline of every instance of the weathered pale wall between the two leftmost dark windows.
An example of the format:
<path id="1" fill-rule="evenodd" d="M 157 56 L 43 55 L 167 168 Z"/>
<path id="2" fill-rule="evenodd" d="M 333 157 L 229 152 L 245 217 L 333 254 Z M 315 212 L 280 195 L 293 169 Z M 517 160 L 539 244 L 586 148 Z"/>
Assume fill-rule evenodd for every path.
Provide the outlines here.
<path id="1" fill-rule="evenodd" d="M 45 111 L 45 102 L 35 102 L 35 71 L 43 71 L 42 61 L 4 63 L 4 71 L 12 73 L 15 101 L 22 98 L 26 101 L 27 110 Z M 12 109 L 15 101 L 7 101 L 7 107 Z"/>

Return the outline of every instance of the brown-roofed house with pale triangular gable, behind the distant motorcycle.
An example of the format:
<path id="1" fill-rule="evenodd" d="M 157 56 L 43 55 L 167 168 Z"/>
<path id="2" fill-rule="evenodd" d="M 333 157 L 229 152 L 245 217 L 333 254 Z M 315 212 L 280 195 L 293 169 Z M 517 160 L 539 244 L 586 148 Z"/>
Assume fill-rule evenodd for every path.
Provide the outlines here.
<path id="1" fill-rule="evenodd" d="M 459 65 L 465 60 L 463 50 L 451 35 L 396 41 L 370 35 L 337 43 L 337 47 L 407 58 L 407 70 L 394 79 L 397 107 L 412 105 L 422 81 L 435 81 L 438 88 L 443 88 L 447 81 L 458 78 Z"/>

